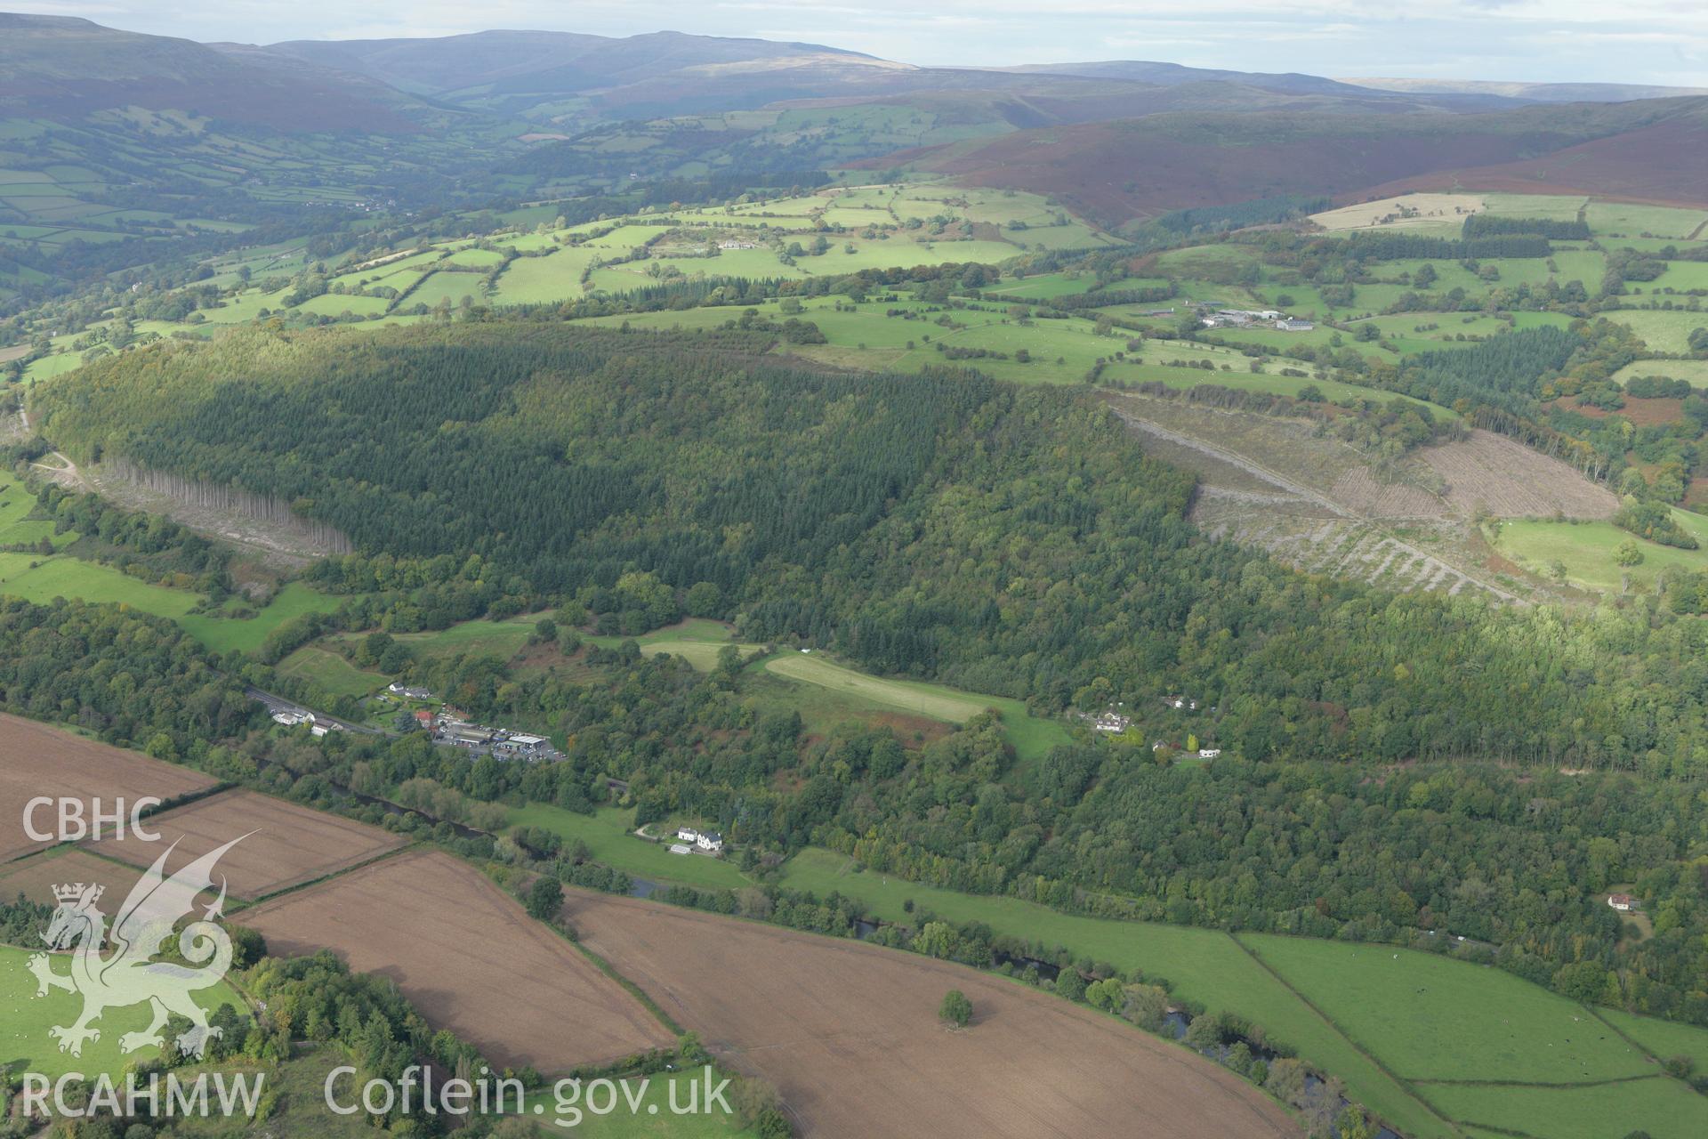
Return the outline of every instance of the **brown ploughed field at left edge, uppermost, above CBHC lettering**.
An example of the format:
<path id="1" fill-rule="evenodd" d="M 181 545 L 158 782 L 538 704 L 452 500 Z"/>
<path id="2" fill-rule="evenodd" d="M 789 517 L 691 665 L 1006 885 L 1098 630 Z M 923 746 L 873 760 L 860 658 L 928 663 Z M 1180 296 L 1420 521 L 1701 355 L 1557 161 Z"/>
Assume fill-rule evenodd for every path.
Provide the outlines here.
<path id="1" fill-rule="evenodd" d="M 212 786 L 212 779 L 188 767 L 0 714 L 0 862 L 53 845 L 32 840 L 24 830 L 24 808 L 39 796 L 80 799 L 85 816 L 94 799 L 108 813 L 125 799 L 128 815 L 145 796 L 169 803 Z M 38 832 L 56 830 L 56 811 L 41 808 L 34 823 Z"/>

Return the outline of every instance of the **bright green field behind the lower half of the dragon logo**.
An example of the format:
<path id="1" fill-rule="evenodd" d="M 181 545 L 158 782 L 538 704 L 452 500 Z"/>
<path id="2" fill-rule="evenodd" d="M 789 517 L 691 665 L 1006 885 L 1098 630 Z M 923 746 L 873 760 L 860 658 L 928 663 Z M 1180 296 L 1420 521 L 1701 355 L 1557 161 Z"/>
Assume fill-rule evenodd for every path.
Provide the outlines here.
<path id="1" fill-rule="evenodd" d="M 120 902 L 121 898 L 113 898 L 111 903 L 116 907 Z M 120 1052 L 120 1037 L 149 1026 L 147 1004 L 108 1009 L 94 1023 L 94 1028 L 101 1030 L 101 1040 L 84 1042 L 80 1057 L 60 1052 L 60 1045 L 48 1035 L 48 1028 L 75 1023 L 84 1008 L 82 997 L 63 989 L 50 989 L 48 996 L 38 997 L 36 975 L 29 972 L 32 953 L 34 949 L 0 944 L 0 1009 L 7 1013 L 0 1021 L 3 1025 L 0 1026 L 0 1066 L 9 1067 L 14 1079 L 24 1072 L 39 1072 L 50 1079 L 58 1079 L 67 1072 L 84 1072 L 91 1079 L 102 1072 L 118 1076 L 132 1060 L 161 1054 L 159 1048 L 142 1048 L 128 1055 Z M 63 975 L 70 960 L 70 955 L 53 955 L 53 972 Z M 208 1013 L 222 1004 L 248 1013 L 243 997 L 224 982 L 203 989 L 195 994 L 195 999 Z"/>

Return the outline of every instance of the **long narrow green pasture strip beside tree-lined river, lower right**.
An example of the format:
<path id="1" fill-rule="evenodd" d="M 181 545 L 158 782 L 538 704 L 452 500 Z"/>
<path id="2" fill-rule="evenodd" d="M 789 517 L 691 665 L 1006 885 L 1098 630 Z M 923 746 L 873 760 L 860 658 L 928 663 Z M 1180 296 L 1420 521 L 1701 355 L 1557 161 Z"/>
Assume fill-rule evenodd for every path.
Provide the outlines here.
<path id="1" fill-rule="evenodd" d="M 861 871 L 849 859 L 816 847 L 801 850 L 784 864 L 782 883 L 818 897 L 842 893 L 883 920 L 917 924 L 926 912 L 951 922 L 984 922 L 997 934 L 1068 946 L 1076 955 L 1120 970 L 1138 968 L 1163 977 L 1182 999 L 1201 1001 L 1213 1013 L 1235 1013 L 1262 1025 L 1303 1059 L 1344 1079 L 1348 1095 L 1407 1136 L 1452 1136 L 1447 1124 L 1225 932 L 1076 917 L 1020 898 L 963 895 Z M 909 900 L 914 902 L 912 914 L 904 905 Z"/>

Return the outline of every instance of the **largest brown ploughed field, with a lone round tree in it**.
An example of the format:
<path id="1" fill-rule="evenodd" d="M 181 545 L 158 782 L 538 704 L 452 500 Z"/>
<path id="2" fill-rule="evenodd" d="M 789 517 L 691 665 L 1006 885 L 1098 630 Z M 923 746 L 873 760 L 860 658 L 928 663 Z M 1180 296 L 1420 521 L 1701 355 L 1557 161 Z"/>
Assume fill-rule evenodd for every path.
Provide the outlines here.
<path id="1" fill-rule="evenodd" d="M 962 965 L 581 890 L 564 915 L 815 1139 L 1298 1134 L 1209 1060 Z M 950 989 L 974 1008 L 960 1031 L 938 1019 Z"/>

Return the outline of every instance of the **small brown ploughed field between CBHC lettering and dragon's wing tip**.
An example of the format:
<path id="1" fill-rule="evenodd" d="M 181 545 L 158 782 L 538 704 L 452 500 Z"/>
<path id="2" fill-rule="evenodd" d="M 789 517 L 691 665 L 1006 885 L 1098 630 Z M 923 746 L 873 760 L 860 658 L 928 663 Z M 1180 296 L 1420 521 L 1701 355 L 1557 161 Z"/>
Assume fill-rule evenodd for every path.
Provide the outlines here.
<path id="1" fill-rule="evenodd" d="M 220 857 L 214 878 L 217 883 L 224 876 L 231 883 L 231 895 L 237 898 L 265 898 L 359 866 L 408 842 L 377 827 L 254 791 L 225 791 L 176 811 L 164 811 L 149 820 L 149 830 L 161 837 L 159 842 L 125 835 L 121 842 L 102 838 L 92 849 L 147 867 L 176 842 L 173 857 L 166 862 L 167 873 L 173 873 L 232 838 L 243 838 Z"/>

